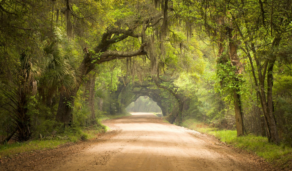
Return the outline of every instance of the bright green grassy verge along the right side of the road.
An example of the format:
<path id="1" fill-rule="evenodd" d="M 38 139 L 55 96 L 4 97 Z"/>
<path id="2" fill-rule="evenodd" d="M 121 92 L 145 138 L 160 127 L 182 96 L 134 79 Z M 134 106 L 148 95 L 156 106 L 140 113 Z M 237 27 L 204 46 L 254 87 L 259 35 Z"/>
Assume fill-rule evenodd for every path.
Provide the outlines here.
<path id="1" fill-rule="evenodd" d="M 183 122 L 182 126 L 204 134 L 213 135 L 220 139 L 221 142 L 255 153 L 281 170 L 292 169 L 292 148 L 285 144 L 277 146 L 269 143 L 266 137 L 261 136 L 246 135 L 237 137 L 235 130 L 217 130 L 195 119 L 187 119 Z"/>

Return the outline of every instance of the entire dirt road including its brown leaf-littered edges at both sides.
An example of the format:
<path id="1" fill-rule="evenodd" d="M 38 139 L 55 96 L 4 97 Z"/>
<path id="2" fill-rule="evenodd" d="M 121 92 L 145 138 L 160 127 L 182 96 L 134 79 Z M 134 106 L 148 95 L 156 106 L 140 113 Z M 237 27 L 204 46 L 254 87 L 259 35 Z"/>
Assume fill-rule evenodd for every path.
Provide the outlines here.
<path id="1" fill-rule="evenodd" d="M 103 124 L 111 130 L 97 139 L 22 155 L 1 163 L 0 170 L 275 170 L 253 154 L 150 113 Z"/>

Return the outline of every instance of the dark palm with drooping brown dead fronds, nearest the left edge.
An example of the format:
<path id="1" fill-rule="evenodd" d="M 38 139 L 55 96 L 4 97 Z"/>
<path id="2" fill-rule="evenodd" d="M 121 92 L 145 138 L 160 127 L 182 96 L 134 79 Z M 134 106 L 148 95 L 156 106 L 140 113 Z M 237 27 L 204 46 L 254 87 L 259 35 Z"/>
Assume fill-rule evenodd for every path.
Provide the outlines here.
<path id="1" fill-rule="evenodd" d="M 37 81 L 35 78 L 42 73 L 37 63 L 32 63 L 32 61 L 37 61 L 33 60 L 34 57 L 27 51 L 23 51 L 19 59 L 18 75 L 11 82 L 12 85 L 3 84 L 1 86 L 2 93 L 8 99 L 1 107 L 10 113 L 13 128 L 13 131 L 9 132 L 11 135 L 5 139 L 6 141 L 12 137 L 17 141 L 27 141 L 32 134 L 30 117 L 27 112 L 32 96 L 36 95 Z"/>

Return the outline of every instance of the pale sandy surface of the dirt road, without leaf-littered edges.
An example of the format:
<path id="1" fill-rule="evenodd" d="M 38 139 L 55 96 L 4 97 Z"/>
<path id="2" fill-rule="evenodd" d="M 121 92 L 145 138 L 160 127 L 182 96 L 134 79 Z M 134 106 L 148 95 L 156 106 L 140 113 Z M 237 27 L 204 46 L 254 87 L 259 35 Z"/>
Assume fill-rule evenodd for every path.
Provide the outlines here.
<path id="1" fill-rule="evenodd" d="M 163 123 L 153 114 L 132 115 L 105 123 L 121 131 L 117 136 L 52 170 L 253 170 L 250 159 L 198 132 Z"/>

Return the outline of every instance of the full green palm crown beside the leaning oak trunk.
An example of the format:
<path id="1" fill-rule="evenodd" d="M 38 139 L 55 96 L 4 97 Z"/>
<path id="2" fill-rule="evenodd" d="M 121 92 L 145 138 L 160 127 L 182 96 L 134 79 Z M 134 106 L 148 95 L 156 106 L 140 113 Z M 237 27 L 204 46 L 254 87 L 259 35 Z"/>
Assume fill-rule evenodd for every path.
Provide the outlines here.
<path id="1" fill-rule="evenodd" d="M 50 89 L 63 88 L 67 91 L 75 87 L 77 79 L 74 71 L 78 66 L 78 60 L 72 49 L 66 32 L 56 28 L 54 39 L 44 46 L 47 58 L 45 69 L 49 74 Z"/>

